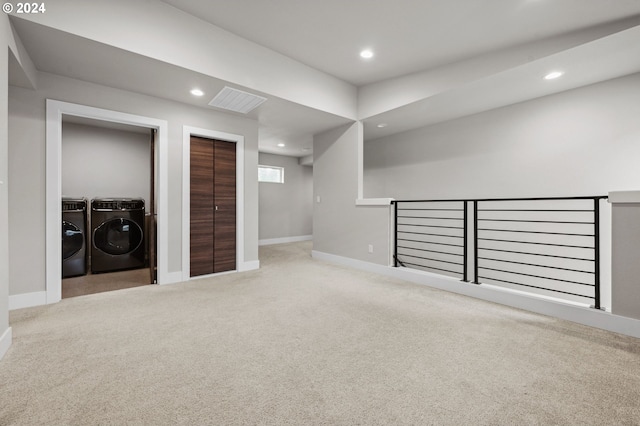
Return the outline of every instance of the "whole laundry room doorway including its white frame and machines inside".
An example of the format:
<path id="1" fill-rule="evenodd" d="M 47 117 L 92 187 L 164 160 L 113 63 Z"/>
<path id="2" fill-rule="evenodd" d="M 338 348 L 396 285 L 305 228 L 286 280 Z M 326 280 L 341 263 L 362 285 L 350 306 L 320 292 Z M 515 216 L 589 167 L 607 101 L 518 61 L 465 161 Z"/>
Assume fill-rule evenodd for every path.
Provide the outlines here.
<path id="1" fill-rule="evenodd" d="M 47 100 L 46 303 L 62 299 L 62 284 L 67 278 L 101 282 L 97 289 L 73 290 L 65 292 L 65 297 L 173 282 L 165 249 L 167 128 L 164 120 Z M 75 141 L 65 138 L 69 129 L 75 132 Z M 124 136 L 115 138 L 121 140 L 114 143 L 115 134 Z M 90 185 L 81 183 L 83 180 Z M 60 226 L 65 216 L 63 194 L 83 200 L 87 216 L 86 273 L 66 268 L 75 276 L 64 278 L 62 260 L 68 253 L 64 239 L 60 244 L 65 235 Z M 73 217 L 77 220 L 78 215 Z"/>

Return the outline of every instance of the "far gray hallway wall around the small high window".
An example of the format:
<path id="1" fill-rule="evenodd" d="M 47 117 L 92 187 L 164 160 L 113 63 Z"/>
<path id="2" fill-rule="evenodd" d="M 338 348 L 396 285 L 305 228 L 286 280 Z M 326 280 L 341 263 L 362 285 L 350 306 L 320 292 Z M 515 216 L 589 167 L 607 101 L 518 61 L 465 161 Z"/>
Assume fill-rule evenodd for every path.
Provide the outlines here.
<path id="1" fill-rule="evenodd" d="M 313 168 L 296 157 L 260 153 L 259 163 L 284 168 L 284 183 L 259 183 L 259 239 L 311 235 L 313 232 Z"/>

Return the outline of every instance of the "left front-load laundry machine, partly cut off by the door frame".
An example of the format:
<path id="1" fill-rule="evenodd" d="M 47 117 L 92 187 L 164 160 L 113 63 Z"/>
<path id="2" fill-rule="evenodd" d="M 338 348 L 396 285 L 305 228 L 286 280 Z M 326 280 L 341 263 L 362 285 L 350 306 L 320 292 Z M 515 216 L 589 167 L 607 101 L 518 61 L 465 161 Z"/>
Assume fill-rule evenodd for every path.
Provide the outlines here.
<path id="1" fill-rule="evenodd" d="M 62 278 L 87 273 L 87 200 L 62 198 Z"/>

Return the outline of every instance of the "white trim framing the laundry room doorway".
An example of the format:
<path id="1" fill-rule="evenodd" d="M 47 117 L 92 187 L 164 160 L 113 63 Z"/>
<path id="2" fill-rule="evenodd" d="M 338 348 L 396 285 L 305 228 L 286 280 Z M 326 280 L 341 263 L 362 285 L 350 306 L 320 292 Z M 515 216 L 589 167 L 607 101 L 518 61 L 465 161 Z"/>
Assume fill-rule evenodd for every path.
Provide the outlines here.
<path id="1" fill-rule="evenodd" d="M 47 99 L 46 123 L 46 303 L 59 302 L 62 299 L 62 280 L 60 246 L 62 212 L 62 116 L 92 118 L 95 120 L 129 124 L 156 129 L 156 161 L 158 179 L 156 181 L 156 200 L 158 203 L 158 284 L 169 282 L 168 265 L 169 243 L 168 218 L 168 125 L 165 120 L 127 114 L 86 105 Z"/>

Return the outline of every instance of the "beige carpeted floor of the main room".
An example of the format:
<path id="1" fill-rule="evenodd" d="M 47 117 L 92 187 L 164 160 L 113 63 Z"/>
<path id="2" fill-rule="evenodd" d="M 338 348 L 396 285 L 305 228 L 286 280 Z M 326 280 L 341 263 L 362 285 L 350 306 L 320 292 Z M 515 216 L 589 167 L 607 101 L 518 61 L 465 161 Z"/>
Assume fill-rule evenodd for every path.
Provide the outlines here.
<path id="1" fill-rule="evenodd" d="M 0 424 L 640 424 L 639 339 L 310 250 L 11 312 Z"/>

